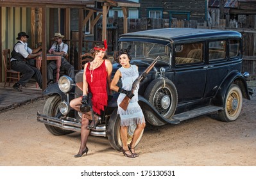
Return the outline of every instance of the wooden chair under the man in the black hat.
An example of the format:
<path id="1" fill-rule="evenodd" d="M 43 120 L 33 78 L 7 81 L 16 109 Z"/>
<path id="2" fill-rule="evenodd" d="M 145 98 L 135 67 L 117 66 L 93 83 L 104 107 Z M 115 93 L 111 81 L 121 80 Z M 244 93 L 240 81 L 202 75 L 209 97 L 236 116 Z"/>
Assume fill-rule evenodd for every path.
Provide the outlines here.
<path id="1" fill-rule="evenodd" d="M 11 69 L 10 49 L 3 50 L 3 59 L 4 59 L 4 70 L 5 70 L 5 81 L 4 81 L 4 88 L 5 88 L 7 79 L 9 79 L 8 86 L 10 86 L 10 82 L 12 80 L 19 81 L 21 77 L 21 73 Z"/>

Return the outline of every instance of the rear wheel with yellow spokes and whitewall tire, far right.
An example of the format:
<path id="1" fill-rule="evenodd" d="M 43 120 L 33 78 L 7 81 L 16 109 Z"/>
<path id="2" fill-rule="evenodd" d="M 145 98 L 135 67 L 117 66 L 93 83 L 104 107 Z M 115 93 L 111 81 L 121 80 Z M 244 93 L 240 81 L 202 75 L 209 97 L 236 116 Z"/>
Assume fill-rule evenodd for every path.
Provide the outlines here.
<path id="1" fill-rule="evenodd" d="M 231 84 L 226 92 L 225 108 L 219 111 L 221 121 L 230 122 L 237 120 L 243 105 L 242 91 L 236 84 Z"/>

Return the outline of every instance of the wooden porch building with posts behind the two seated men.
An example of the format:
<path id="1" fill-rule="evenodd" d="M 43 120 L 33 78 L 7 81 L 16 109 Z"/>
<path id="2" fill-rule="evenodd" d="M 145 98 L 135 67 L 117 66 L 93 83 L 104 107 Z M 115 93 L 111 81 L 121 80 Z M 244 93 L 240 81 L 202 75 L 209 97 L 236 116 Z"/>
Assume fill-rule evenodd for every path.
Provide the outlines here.
<path id="1" fill-rule="evenodd" d="M 100 4 L 101 8 L 98 8 L 97 4 Z M 78 31 L 78 54 L 80 55 L 83 40 L 85 40 L 83 31 L 87 28 L 89 33 L 94 35 L 94 27 L 99 19 L 102 19 L 102 40 L 107 39 L 107 14 L 112 6 L 119 6 L 123 10 L 123 28 L 126 33 L 128 7 L 139 7 L 139 3 L 127 0 L 0 0 L 0 51 L 12 50 L 17 42 L 15 38 L 20 31 L 26 31 L 30 36 L 30 47 L 34 47 L 37 42 L 42 42 L 43 88 L 46 88 L 46 52 L 51 45 L 54 33 L 61 32 L 65 35 L 65 40 L 71 42 L 71 29 L 76 29 Z M 76 22 L 71 20 L 73 10 L 77 11 Z M 2 56 L 0 56 L 0 69 L 1 82 L 4 79 Z"/>

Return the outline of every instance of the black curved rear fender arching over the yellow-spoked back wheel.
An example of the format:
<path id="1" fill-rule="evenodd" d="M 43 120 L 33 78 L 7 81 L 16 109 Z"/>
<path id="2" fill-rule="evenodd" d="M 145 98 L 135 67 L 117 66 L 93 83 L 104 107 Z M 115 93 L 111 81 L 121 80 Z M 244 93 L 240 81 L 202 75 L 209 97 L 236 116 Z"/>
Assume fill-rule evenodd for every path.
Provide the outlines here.
<path id="1" fill-rule="evenodd" d="M 230 84 L 237 84 L 239 88 L 241 88 L 243 93 L 243 98 L 250 100 L 250 95 L 248 92 L 248 87 L 246 83 L 245 77 L 238 71 L 233 71 L 228 74 L 221 85 L 218 88 L 218 91 L 213 98 L 212 102 L 214 105 L 223 106 L 225 105 L 225 97 L 226 97 L 226 90 L 229 88 Z"/>

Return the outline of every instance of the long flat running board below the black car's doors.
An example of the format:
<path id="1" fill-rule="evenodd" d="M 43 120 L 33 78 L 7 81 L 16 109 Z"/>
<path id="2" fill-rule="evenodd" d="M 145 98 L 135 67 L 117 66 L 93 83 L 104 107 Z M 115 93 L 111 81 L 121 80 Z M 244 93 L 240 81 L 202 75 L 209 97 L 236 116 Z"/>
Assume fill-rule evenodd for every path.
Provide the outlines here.
<path id="1" fill-rule="evenodd" d="M 219 107 L 219 106 L 214 106 L 214 105 L 207 105 L 205 107 L 200 107 L 198 109 L 194 109 L 191 111 L 187 111 L 184 113 L 180 113 L 180 114 L 176 114 L 172 117 L 172 119 L 174 120 L 179 120 L 179 121 L 184 121 L 184 120 L 188 120 L 197 116 L 201 116 L 203 114 L 209 114 L 215 111 L 219 111 L 223 109 L 223 107 Z"/>

